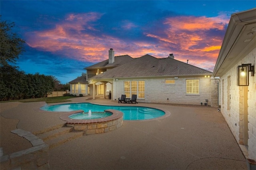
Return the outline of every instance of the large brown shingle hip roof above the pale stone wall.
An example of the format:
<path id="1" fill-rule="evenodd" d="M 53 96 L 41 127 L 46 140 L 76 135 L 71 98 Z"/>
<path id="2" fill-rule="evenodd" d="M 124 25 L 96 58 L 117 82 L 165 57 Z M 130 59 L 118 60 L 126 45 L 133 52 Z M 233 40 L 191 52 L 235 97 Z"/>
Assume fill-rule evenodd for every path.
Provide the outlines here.
<path id="1" fill-rule="evenodd" d="M 144 55 L 91 78 L 211 75 L 212 72 L 172 58 Z"/>

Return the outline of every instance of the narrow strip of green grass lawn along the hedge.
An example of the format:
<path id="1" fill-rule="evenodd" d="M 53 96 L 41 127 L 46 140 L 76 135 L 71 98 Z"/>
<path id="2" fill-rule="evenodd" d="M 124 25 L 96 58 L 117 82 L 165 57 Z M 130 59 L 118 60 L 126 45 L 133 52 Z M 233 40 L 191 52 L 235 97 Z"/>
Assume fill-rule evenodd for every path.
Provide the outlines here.
<path id="1" fill-rule="evenodd" d="M 9 100 L 9 101 L 2 101 L 2 102 L 46 102 L 46 103 L 58 103 L 58 102 L 68 102 L 68 101 L 70 101 L 70 100 L 68 100 L 70 98 L 79 98 L 79 97 L 74 97 L 74 96 L 58 96 L 58 97 L 50 97 L 50 98 Z"/>

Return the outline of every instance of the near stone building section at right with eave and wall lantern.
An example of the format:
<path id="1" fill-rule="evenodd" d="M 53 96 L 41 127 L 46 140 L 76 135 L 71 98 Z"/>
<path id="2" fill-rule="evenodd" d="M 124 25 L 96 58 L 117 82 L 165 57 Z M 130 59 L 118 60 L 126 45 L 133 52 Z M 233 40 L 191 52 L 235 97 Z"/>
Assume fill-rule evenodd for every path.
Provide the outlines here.
<path id="1" fill-rule="evenodd" d="M 255 63 L 256 8 L 232 14 L 213 71 L 221 113 L 249 162 L 256 160 Z"/>

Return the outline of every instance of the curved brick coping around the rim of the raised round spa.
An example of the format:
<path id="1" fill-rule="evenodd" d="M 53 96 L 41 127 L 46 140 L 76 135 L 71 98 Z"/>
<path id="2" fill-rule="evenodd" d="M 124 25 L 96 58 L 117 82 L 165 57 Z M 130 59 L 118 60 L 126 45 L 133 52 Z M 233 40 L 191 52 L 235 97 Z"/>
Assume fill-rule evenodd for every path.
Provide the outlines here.
<path id="1" fill-rule="evenodd" d="M 64 113 L 64 114 L 60 115 L 60 119 L 66 121 L 66 124 L 72 124 L 72 125 L 81 124 L 82 125 L 82 124 L 93 124 L 93 123 L 105 123 L 105 122 L 113 121 L 113 120 L 123 117 L 123 113 L 118 110 L 107 109 L 104 111 L 110 112 L 110 113 L 112 113 L 112 115 L 110 115 L 108 117 L 98 118 L 98 119 L 70 119 L 68 116 L 70 116 L 72 114 L 84 112 L 83 110 L 76 110 L 76 111 L 69 111 L 68 113 Z"/>

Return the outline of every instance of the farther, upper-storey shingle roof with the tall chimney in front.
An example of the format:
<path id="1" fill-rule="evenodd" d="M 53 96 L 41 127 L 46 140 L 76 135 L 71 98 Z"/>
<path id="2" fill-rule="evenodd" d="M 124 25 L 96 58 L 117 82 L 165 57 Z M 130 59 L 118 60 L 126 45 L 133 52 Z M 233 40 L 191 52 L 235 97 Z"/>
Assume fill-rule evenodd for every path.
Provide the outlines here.
<path id="1" fill-rule="evenodd" d="M 127 63 L 129 61 L 134 60 L 132 57 L 130 57 L 129 55 L 120 55 L 120 56 L 115 56 L 115 61 L 112 64 L 108 64 L 108 59 L 104 60 L 100 63 L 94 64 L 92 66 L 88 66 L 84 69 L 86 70 L 90 70 L 90 69 L 95 69 L 95 68 L 112 68 L 112 67 L 116 67 L 116 66 L 120 66 L 124 63 Z"/>

